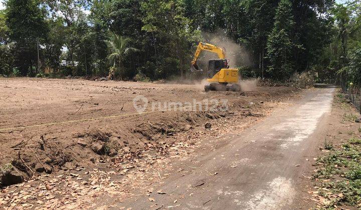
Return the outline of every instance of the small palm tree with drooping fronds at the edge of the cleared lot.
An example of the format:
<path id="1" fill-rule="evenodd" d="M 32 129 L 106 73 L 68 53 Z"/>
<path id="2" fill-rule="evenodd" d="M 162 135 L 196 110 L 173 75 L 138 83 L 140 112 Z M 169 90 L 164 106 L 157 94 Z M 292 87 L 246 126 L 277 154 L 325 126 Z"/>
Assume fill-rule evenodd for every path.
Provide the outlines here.
<path id="1" fill-rule="evenodd" d="M 120 76 L 124 74 L 123 61 L 130 52 L 139 51 L 137 48 L 129 47 L 131 39 L 113 33 L 110 40 L 108 41 L 108 47 L 110 54 L 108 54 L 107 59 L 110 65 L 113 65 L 109 72 L 109 77 L 111 74 L 114 74 L 114 71 L 120 71 Z"/>

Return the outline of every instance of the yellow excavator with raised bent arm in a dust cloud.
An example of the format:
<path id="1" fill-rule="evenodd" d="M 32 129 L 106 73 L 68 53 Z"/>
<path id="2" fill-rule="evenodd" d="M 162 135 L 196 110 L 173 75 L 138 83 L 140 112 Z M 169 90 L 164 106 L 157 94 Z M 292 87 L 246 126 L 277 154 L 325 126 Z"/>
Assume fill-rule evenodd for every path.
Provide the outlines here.
<path id="1" fill-rule="evenodd" d="M 229 68 L 226 59 L 226 49 L 221 46 L 203 43 L 198 44 L 194 59 L 192 61 L 192 71 L 203 71 L 197 64 L 197 60 L 203 50 L 214 52 L 219 59 L 210 59 L 207 65 L 207 81 L 205 91 L 222 90 L 222 91 L 240 91 L 238 84 L 238 69 Z"/>

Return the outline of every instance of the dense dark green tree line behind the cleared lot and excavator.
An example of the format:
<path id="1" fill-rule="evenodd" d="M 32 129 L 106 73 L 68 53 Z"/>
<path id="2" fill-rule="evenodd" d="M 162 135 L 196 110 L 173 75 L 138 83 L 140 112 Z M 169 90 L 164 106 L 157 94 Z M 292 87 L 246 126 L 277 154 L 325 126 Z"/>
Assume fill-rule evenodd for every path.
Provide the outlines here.
<path id="1" fill-rule="evenodd" d="M 359 0 L 6 0 L 0 74 L 105 76 L 116 36 L 138 49 L 118 78 L 184 77 L 197 43 L 217 37 L 253 76 L 330 78 L 359 69 L 360 10 Z"/>

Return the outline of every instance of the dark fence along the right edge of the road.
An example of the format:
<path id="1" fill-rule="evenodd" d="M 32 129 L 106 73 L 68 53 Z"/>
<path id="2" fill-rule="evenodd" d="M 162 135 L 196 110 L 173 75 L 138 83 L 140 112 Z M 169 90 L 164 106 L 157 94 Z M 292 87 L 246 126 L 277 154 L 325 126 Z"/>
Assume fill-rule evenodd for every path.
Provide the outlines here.
<path id="1" fill-rule="evenodd" d="M 345 97 L 357 108 L 361 113 L 361 86 L 360 82 L 353 84 L 348 82 L 347 75 L 341 73 L 340 84 Z"/>

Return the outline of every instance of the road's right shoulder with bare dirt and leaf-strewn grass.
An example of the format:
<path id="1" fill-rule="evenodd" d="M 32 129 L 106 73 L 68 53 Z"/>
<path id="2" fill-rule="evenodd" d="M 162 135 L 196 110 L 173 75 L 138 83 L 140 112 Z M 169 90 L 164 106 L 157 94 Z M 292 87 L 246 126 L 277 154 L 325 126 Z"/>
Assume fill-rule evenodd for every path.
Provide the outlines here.
<path id="1" fill-rule="evenodd" d="M 312 167 L 303 177 L 303 200 L 309 207 L 359 209 L 361 206 L 361 123 L 357 119 L 360 114 L 337 89 L 326 134 L 310 159 Z"/>

